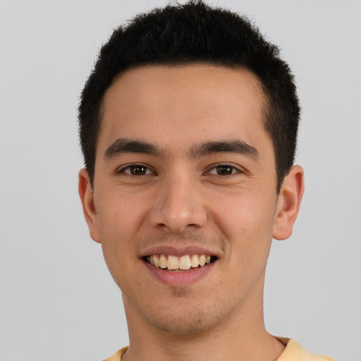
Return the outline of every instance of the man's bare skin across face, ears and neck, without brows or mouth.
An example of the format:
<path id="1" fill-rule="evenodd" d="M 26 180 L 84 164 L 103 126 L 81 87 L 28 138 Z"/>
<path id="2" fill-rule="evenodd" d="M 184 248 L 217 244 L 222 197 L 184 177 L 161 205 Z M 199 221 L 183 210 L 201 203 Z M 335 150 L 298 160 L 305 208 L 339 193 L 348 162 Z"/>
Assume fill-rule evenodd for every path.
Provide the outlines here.
<path id="1" fill-rule="evenodd" d="M 283 352 L 264 327 L 264 272 L 271 239 L 292 233 L 303 171 L 293 166 L 277 194 L 260 89 L 245 69 L 189 65 L 133 69 L 107 90 L 94 190 L 82 169 L 79 192 L 122 290 L 130 336 L 123 360 L 271 361 Z M 104 156 L 120 138 L 157 145 L 159 154 Z M 235 140 L 257 156 L 191 152 Z M 145 173 L 132 175 L 132 164 Z M 217 171 L 225 164 L 231 174 Z M 217 259 L 197 281 L 167 284 L 141 259 L 154 245 L 202 247 Z"/>

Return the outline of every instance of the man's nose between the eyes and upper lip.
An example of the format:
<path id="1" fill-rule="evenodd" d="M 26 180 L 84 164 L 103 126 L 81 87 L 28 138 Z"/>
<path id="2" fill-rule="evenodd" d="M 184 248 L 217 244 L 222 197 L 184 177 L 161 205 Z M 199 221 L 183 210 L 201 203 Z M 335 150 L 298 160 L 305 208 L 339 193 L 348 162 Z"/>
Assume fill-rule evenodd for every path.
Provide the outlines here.
<path id="1" fill-rule="evenodd" d="M 172 177 L 159 184 L 154 205 L 149 212 L 152 226 L 164 231 L 182 233 L 200 228 L 207 221 L 201 184 L 188 177 Z"/>

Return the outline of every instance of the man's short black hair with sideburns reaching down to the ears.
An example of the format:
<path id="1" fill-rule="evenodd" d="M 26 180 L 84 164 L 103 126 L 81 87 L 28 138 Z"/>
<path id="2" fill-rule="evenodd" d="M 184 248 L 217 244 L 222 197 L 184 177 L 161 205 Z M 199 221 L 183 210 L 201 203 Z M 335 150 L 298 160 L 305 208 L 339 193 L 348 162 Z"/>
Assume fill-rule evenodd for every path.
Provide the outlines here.
<path id="1" fill-rule="evenodd" d="M 279 192 L 293 166 L 300 118 L 294 77 L 279 53 L 250 20 L 202 1 L 155 8 L 118 27 L 99 51 L 80 99 L 80 143 L 92 186 L 102 101 L 116 76 L 147 65 L 207 63 L 247 68 L 262 83 L 264 128 L 274 146 Z"/>

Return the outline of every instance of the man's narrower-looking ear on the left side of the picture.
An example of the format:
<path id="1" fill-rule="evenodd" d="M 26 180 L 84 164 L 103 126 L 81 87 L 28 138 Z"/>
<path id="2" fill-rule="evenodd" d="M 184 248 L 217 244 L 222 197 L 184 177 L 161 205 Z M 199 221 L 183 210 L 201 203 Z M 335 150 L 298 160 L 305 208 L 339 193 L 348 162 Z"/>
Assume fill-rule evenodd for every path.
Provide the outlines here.
<path id="1" fill-rule="evenodd" d="M 87 221 L 90 237 L 95 242 L 100 243 L 98 216 L 94 205 L 92 185 L 90 184 L 89 174 L 84 168 L 79 171 L 78 190 L 80 200 L 82 201 L 82 212 L 84 213 L 85 221 Z"/>

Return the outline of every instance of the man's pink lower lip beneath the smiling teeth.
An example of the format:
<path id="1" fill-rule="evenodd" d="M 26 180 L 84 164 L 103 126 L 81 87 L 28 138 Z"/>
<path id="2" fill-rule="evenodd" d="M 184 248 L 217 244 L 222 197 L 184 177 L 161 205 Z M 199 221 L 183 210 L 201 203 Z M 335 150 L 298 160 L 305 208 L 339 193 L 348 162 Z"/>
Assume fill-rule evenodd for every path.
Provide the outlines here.
<path id="1" fill-rule="evenodd" d="M 164 247 L 162 247 L 164 250 Z M 154 253 L 153 253 L 154 254 Z M 209 274 L 210 271 L 214 268 L 214 265 L 217 261 L 205 264 L 202 267 L 197 267 L 195 269 L 189 269 L 188 271 L 165 271 L 164 269 L 154 267 L 152 264 L 145 262 L 144 259 L 141 259 L 142 263 L 146 267 L 149 274 L 155 277 L 157 280 L 162 283 L 166 283 L 169 286 L 187 286 L 192 283 L 200 281 Z"/>

